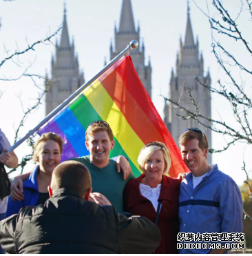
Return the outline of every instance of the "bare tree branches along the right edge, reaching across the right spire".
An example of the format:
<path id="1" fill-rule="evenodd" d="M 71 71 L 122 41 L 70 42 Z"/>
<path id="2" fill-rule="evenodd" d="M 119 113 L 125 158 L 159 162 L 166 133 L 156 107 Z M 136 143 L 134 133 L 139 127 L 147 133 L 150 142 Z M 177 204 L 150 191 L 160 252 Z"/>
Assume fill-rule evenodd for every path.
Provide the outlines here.
<path id="1" fill-rule="evenodd" d="M 195 3 L 195 1 L 193 2 Z M 236 81 L 235 79 L 235 72 L 237 72 L 238 74 L 240 74 L 241 72 L 246 72 L 246 75 L 252 75 L 252 70 L 249 67 L 245 67 L 242 61 L 239 61 L 239 58 L 235 57 L 236 52 L 232 54 L 229 50 L 227 50 L 227 48 L 223 46 L 221 41 L 217 41 L 214 38 L 214 35 L 216 35 L 217 32 L 218 34 L 224 35 L 224 37 L 229 37 L 231 41 L 235 39 L 235 41 L 239 43 L 238 47 L 240 48 L 240 46 L 242 46 L 242 48 L 247 51 L 247 56 L 251 57 L 252 50 L 249 47 L 249 41 L 247 41 L 246 38 L 243 36 L 240 27 L 238 28 L 237 21 L 238 18 L 243 14 L 243 12 L 249 12 L 249 16 L 252 19 L 252 3 L 250 3 L 249 0 L 246 0 L 246 3 L 244 1 L 241 1 L 239 12 L 237 15 L 235 15 L 235 19 L 233 19 L 233 17 L 231 17 L 231 14 L 229 14 L 228 10 L 224 8 L 223 1 L 211 0 L 211 2 L 214 8 L 218 10 L 218 14 L 220 14 L 220 17 L 222 19 L 217 20 L 211 17 L 211 15 L 209 14 L 208 4 L 208 14 L 197 5 L 196 6 L 209 19 L 213 42 L 211 44 L 213 55 L 216 57 L 218 65 L 220 66 L 220 68 L 222 68 L 222 70 L 224 70 L 224 73 L 227 75 L 231 82 L 227 83 L 219 80 L 218 85 L 220 86 L 220 88 L 213 88 L 213 86 L 208 86 L 206 81 L 202 82 L 198 77 L 195 77 L 193 75 L 193 70 L 192 75 L 199 86 L 202 86 L 203 88 L 209 90 L 209 93 L 212 92 L 215 95 L 220 95 L 225 101 L 227 101 L 231 105 L 233 116 L 236 120 L 236 124 L 238 124 L 238 127 L 236 126 L 236 124 L 235 126 L 229 125 L 229 120 L 225 121 L 225 118 L 222 120 L 222 118 L 220 117 L 220 119 L 218 120 L 211 117 L 204 117 L 203 115 L 201 115 L 200 105 L 198 103 L 200 102 L 199 99 L 193 99 L 193 89 L 191 90 L 191 88 L 187 88 L 187 86 L 185 85 L 183 86 L 183 90 L 184 88 L 187 88 L 188 98 L 191 100 L 194 108 L 193 110 L 191 108 L 188 108 L 188 106 L 182 106 L 179 101 L 176 102 L 166 97 L 164 97 L 164 99 L 165 101 L 169 102 L 169 108 L 171 108 L 173 112 L 178 117 L 180 117 L 180 119 L 196 120 L 198 124 L 204 126 L 204 128 L 225 136 L 225 139 L 227 138 L 227 144 L 223 148 L 209 149 L 210 153 L 214 153 L 228 150 L 230 146 L 233 146 L 237 142 L 243 142 L 252 145 L 251 118 L 249 118 L 249 114 L 251 114 L 252 111 L 251 95 L 247 93 L 248 90 L 246 90 L 245 83 L 238 83 L 238 81 Z M 248 8 L 244 8 L 244 3 Z M 224 59 L 222 58 L 222 55 L 225 56 Z M 244 183 L 248 187 L 249 197 L 252 198 L 252 190 L 249 183 L 249 173 L 246 171 L 244 161 L 242 170 L 246 175 L 246 181 L 244 181 Z M 245 212 L 244 214 L 247 215 Z"/>

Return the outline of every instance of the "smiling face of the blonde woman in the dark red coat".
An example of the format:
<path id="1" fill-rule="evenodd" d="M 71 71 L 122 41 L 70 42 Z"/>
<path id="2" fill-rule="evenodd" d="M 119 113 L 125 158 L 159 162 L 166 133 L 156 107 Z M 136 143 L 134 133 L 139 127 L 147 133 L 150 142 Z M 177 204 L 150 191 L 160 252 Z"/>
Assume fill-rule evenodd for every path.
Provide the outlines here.
<path id="1" fill-rule="evenodd" d="M 156 150 L 145 161 L 145 169 L 143 170 L 143 173 L 145 174 L 147 184 L 149 183 L 148 181 L 158 181 L 158 183 L 160 183 L 165 168 L 164 154 L 162 150 Z"/>

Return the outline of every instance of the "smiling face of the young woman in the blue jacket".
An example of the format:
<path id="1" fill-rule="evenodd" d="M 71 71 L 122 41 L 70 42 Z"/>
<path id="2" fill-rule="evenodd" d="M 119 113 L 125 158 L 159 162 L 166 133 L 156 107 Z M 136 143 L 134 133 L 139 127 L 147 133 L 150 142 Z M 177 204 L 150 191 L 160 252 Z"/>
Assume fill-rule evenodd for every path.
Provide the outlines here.
<path id="1" fill-rule="evenodd" d="M 42 172 L 52 173 L 61 161 L 61 148 L 59 144 L 51 139 L 41 141 L 36 161 L 39 161 L 39 169 Z"/>

